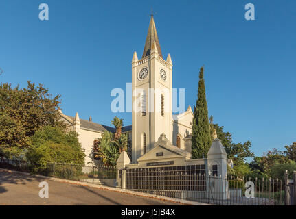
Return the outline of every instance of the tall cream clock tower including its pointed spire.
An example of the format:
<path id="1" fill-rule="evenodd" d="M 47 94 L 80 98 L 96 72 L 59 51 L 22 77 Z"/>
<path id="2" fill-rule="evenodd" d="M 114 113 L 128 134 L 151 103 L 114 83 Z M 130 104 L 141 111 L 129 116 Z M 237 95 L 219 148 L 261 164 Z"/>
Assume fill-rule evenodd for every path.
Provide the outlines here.
<path id="1" fill-rule="evenodd" d="M 150 151 L 164 133 L 172 142 L 172 60 L 163 60 L 151 15 L 144 52 L 132 60 L 132 162 Z"/>

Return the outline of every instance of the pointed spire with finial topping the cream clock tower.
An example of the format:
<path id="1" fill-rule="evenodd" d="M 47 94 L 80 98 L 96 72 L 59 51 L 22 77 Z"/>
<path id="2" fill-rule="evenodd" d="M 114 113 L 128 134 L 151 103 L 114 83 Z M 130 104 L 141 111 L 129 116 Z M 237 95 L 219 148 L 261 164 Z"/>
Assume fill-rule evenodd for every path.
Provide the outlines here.
<path id="1" fill-rule="evenodd" d="M 159 44 L 159 40 L 158 40 L 158 36 L 157 36 L 157 31 L 156 31 L 156 27 L 155 27 L 153 14 L 151 14 L 151 20 L 150 20 L 150 24 L 149 24 L 148 34 L 147 34 L 146 43 L 145 43 L 142 58 L 150 55 L 150 52 L 152 50 L 152 47 L 153 47 L 154 43 L 156 44 L 158 55 L 160 57 L 162 57 L 162 53 L 161 53 L 161 49 L 160 49 L 160 44 Z"/>

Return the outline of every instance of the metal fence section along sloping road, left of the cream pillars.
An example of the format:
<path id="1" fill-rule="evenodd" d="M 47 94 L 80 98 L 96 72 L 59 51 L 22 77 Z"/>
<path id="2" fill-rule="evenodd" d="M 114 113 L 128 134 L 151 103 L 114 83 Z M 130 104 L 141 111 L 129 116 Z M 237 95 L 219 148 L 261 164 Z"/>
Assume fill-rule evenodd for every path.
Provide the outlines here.
<path id="1" fill-rule="evenodd" d="M 52 163 L 41 167 L 24 160 L 0 158 L 0 168 L 98 185 L 115 186 L 116 181 L 116 167 L 102 165 L 84 166 L 81 164 Z"/>

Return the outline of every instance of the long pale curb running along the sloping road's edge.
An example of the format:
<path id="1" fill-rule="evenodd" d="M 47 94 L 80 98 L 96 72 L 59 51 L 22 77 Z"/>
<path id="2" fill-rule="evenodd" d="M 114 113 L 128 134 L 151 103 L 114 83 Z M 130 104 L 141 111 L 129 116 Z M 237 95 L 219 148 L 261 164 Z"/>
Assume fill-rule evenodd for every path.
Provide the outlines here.
<path id="1" fill-rule="evenodd" d="M 198 203 L 196 201 L 186 201 L 183 199 L 178 199 L 178 198 L 168 198 L 166 196 L 157 196 L 157 195 L 152 195 L 152 194 L 145 194 L 145 193 L 141 193 L 141 192 L 133 192 L 130 190 L 124 190 L 124 189 L 120 189 L 120 188 L 112 188 L 112 187 L 108 187 L 105 185 L 94 185 L 91 183 L 82 183 L 80 181 L 73 181 L 73 180 L 69 180 L 69 179 L 60 179 L 60 178 L 56 178 L 56 177 L 45 177 L 42 175 L 32 175 L 28 172 L 19 172 L 16 170 L 7 170 L 7 169 L 3 169 L 0 168 L 0 170 L 3 170 L 5 172 L 11 172 L 11 173 L 16 173 L 16 174 L 21 174 L 21 175 L 27 175 L 27 176 L 32 176 L 32 177 L 38 177 L 41 179 L 48 179 L 51 181 L 57 181 L 60 183 L 70 183 L 70 184 L 74 184 L 74 185 L 82 185 L 82 186 L 88 186 L 91 188 L 98 188 L 100 190 L 109 190 L 109 191 L 113 191 L 113 192 L 121 192 L 124 194 L 131 194 L 134 196 L 141 196 L 141 197 L 145 197 L 145 198 L 154 198 L 160 201 L 170 201 L 172 203 L 179 203 L 179 204 L 183 204 L 183 205 L 210 205 L 210 204 L 206 204 L 206 203 Z"/>

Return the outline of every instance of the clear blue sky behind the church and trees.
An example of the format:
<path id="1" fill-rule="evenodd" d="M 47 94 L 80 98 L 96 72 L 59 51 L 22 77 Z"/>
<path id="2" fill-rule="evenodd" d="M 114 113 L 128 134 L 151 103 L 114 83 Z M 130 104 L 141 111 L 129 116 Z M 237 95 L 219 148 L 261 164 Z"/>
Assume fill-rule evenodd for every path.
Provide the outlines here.
<path id="1" fill-rule="evenodd" d="M 39 4 L 49 5 L 40 21 Z M 255 5 L 255 21 L 244 5 Z M 110 110 L 113 88 L 131 82 L 133 52 L 143 53 L 150 10 L 173 87 L 196 101 L 205 65 L 209 115 L 234 142 L 252 142 L 255 155 L 295 142 L 296 1 L 74 1 L 1 0 L 1 82 L 43 83 L 62 95 L 62 111 L 111 125 L 131 124 Z"/>

